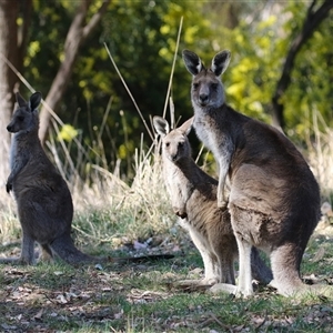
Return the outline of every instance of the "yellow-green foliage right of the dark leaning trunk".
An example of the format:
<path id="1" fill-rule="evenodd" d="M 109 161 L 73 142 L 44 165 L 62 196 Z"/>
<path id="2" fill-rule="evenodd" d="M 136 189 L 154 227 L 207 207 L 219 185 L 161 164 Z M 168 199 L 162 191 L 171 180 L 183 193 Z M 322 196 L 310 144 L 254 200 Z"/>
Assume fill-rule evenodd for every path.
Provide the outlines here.
<path id="1" fill-rule="evenodd" d="M 304 17 L 294 12 L 296 21 Z M 324 122 L 320 129 L 333 125 L 333 13 L 323 22 L 311 40 L 303 46 L 296 58 L 296 68 L 292 74 L 292 84 L 283 97 L 286 105 L 289 134 L 293 138 L 304 138 L 313 128 L 313 118 L 319 112 Z"/>

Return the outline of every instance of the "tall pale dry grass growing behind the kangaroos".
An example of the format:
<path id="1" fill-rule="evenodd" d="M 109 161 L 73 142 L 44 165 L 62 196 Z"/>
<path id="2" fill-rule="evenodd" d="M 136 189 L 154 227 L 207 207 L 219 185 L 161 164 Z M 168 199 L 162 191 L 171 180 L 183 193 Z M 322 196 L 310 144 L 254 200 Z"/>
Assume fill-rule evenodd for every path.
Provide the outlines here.
<path id="1" fill-rule="evenodd" d="M 314 140 L 307 140 L 306 154 L 321 185 L 323 202 L 332 203 L 333 130 L 324 127 L 325 130 L 320 131 L 317 119 L 314 119 L 314 124 L 315 137 Z M 63 141 L 49 142 L 47 151 L 68 180 L 72 192 L 74 229 L 79 234 L 105 242 L 123 233 L 133 240 L 153 233 L 168 233 L 174 226 L 175 218 L 162 179 L 158 142 L 147 149 L 142 142 L 132 158 L 134 178 L 130 181 L 120 176 L 119 161 L 115 163 L 118 168 L 111 172 L 105 167 L 108 163 L 103 153 L 91 158 L 93 151 L 101 151 L 101 147 L 91 149 L 74 141 L 69 144 Z M 81 150 L 81 157 L 90 155 L 89 161 L 84 158 L 77 161 L 71 159 L 70 149 L 74 144 L 78 151 Z M 65 162 L 61 162 L 63 160 Z M 82 169 L 89 170 L 84 179 L 78 171 Z M 0 203 L 0 242 L 17 240 L 20 238 L 20 226 L 12 195 L 2 191 Z"/>

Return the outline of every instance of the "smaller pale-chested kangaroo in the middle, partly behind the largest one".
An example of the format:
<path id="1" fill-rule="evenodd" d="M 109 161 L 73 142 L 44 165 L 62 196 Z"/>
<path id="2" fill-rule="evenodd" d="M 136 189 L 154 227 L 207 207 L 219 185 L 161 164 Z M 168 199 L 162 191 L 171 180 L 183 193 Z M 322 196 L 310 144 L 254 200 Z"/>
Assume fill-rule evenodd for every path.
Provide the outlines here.
<path id="1" fill-rule="evenodd" d="M 200 251 L 204 264 L 204 279 L 199 284 L 235 284 L 234 260 L 238 245 L 226 208 L 216 205 L 218 181 L 202 171 L 191 157 L 188 134 L 193 118 L 170 131 L 161 117 L 153 118 L 153 125 L 162 138 L 163 178 L 173 211 L 180 224 L 188 230 Z M 260 282 L 269 283 L 272 272 L 252 251 L 252 272 Z M 194 281 L 193 281 L 194 282 Z"/>

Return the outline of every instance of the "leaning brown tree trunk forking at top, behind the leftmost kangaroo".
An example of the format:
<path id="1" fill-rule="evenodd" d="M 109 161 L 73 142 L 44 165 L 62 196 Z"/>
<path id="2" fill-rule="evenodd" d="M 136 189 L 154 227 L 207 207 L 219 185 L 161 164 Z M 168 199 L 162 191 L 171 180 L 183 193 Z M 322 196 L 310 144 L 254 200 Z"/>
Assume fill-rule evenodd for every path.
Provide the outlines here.
<path id="1" fill-rule="evenodd" d="M 87 17 L 91 0 L 81 0 L 78 12 L 71 23 L 68 31 L 67 39 L 64 42 L 64 57 L 60 64 L 59 71 L 51 84 L 50 91 L 44 100 L 44 105 L 40 112 L 40 130 L 39 138 L 42 144 L 48 138 L 48 130 L 51 120 L 51 112 L 57 111 L 63 93 L 68 87 L 69 80 L 72 74 L 72 70 L 78 57 L 79 48 L 84 42 L 84 40 L 91 34 L 97 24 L 101 21 L 101 18 L 105 13 L 108 6 L 111 0 L 104 0 L 99 8 L 99 10 L 93 14 L 88 23 Z"/>

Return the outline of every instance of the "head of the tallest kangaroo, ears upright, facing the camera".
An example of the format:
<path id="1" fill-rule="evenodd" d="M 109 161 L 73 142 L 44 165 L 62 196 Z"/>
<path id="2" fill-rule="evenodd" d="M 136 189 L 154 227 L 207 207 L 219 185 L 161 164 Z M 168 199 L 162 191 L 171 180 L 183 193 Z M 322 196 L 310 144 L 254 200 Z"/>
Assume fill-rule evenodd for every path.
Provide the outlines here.
<path id="1" fill-rule="evenodd" d="M 229 50 L 221 51 L 213 58 L 211 67 L 205 68 L 194 52 L 183 51 L 185 67 L 193 75 L 191 98 L 194 108 L 220 108 L 224 103 L 224 88 L 221 75 L 226 70 L 230 58 Z"/>

